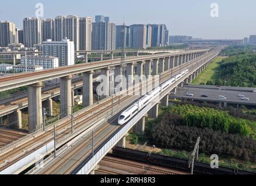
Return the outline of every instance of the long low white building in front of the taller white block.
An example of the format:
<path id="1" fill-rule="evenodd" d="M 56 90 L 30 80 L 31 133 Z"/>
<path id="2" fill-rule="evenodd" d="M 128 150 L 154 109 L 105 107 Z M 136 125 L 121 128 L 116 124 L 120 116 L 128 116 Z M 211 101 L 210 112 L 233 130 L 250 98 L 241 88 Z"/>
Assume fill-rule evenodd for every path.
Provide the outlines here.
<path id="1" fill-rule="evenodd" d="M 59 59 L 53 56 L 23 56 L 20 59 L 20 64 L 23 66 L 38 65 L 42 66 L 43 69 L 54 69 L 59 67 Z"/>

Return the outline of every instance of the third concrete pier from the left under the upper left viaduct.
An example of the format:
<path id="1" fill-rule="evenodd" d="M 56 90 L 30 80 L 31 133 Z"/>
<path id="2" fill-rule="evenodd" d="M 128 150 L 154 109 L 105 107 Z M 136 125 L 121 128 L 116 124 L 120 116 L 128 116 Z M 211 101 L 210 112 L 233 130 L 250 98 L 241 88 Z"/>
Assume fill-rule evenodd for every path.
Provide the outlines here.
<path id="1" fill-rule="evenodd" d="M 83 106 L 93 105 L 93 71 L 83 73 Z"/>

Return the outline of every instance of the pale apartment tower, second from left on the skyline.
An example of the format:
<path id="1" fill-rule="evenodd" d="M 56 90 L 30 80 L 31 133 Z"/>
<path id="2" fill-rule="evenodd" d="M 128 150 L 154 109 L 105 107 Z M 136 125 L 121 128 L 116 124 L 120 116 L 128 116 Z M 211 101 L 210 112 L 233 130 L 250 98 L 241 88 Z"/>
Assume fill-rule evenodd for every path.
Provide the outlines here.
<path id="1" fill-rule="evenodd" d="M 23 19 L 23 34 L 25 47 L 33 47 L 42 43 L 42 21 L 37 17 Z"/>

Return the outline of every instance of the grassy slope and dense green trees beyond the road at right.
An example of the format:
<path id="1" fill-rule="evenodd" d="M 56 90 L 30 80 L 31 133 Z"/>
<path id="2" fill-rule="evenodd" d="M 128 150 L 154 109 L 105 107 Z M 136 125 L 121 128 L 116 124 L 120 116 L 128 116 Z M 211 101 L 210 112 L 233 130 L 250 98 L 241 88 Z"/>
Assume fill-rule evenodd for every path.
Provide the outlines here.
<path id="1" fill-rule="evenodd" d="M 256 47 L 230 46 L 192 83 L 226 85 L 233 87 L 256 86 Z M 221 59 L 221 62 L 219 61 Z"/>

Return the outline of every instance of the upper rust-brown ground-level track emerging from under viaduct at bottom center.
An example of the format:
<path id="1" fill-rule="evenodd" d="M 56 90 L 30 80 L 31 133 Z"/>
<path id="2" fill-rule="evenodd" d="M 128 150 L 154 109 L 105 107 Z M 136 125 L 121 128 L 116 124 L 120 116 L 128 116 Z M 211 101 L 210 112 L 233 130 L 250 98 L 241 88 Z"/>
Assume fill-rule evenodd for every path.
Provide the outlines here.
<path id="1" fill-rule="evenodd" d="M 135 167 L 137 169 L 142 169 L 142 170 L 146 170 L 146 171 L 153 171 L 155 173 L 160 173 L 160 174 L 177 174 L 177 173 L 174 173 L 172 171 L 156 169 L 156 168 L 149 167 L 149 166 L 142 166 L 142 165 L 139 165 L 139 164 L 136 164 L 136 163 L 127 163 L 127 162 L 124 162 L 124 161 L 114 160 L 114 159 L 110 159 L 110 158 L 103 158 L 102 160 L 107 161 L 107 162 L 111 162 L 111 163 L 122 164 L 122 165 L 125 165 L 125 166 Z"/>

